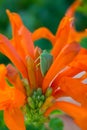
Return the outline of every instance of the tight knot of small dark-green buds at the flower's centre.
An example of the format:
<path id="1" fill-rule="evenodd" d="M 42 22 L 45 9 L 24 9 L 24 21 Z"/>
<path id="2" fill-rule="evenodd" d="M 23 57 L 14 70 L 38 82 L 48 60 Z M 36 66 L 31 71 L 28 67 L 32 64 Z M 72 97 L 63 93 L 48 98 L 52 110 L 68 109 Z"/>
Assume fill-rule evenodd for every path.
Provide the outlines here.
<path id="1" fill-rule="evenodd" d="M 27 98 L 27 101 L 30 108 L 39 109 L 45 101 L 45 96 L 42 94 L 42 89 L 38 88 L 34 91 L 31 97 Z"/>

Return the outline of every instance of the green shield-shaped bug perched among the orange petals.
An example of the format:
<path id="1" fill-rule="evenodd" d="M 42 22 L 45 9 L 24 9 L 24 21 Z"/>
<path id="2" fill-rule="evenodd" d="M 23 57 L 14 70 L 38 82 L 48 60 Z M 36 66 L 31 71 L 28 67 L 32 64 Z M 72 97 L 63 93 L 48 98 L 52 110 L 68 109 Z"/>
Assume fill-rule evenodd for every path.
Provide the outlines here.
<path id="1" fill-rule="evenodd" d="M 45 76 L 45 74 L 49 70 L 52 62 L 53 56 L 44 50 L 43 53 L 41 53 L 40 55 L 40 69 L 43 76 Z"/>

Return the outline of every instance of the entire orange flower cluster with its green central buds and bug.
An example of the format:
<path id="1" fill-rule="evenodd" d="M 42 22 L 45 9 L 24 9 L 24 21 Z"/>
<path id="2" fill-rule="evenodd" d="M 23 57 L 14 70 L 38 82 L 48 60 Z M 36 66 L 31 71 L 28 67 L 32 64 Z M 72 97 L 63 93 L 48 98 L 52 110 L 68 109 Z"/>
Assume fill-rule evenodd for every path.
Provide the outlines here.
<path id="1" fill-rule="evenodd" d="M 9 129 L 25 130 L 24 121 L 34 125 L 46 122 L 50 112 L 60 109 L 87 130 L 87 84 L 83 82 L 87 78 L 87 50 L 79 45 L 87 32 L 77 32 L 73 26 L 79 4 L 75 1 L 71 5 L 55 35 L 45 27 L 31 33 L 18 14 L 6 11 L 13 35 L 9 40 L 0 34 L 0 52 L 14 66 L 0 65 L 0 110 Z M 34 46 L 40 38 L 50 40 L 50 53 Z M 74 77 L 82 71 L 83 76 Z M 58 100 L 65 96 L 80 105 Z"/>

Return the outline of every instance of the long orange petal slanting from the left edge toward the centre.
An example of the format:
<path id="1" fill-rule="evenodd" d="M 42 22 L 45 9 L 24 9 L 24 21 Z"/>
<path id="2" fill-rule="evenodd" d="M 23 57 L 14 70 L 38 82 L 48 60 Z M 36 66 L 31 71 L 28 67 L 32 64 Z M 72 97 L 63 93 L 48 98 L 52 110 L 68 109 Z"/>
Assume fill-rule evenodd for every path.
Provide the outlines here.
<path id="1" fill-rule="evenodd" d="M 24 77 L 27 77 L 27 71 L 20 56 L 16 52 L 15 48 L 10 44 L 10 41 L 2 34 L 0 34 L 0 51 L 15 64 Z"/>

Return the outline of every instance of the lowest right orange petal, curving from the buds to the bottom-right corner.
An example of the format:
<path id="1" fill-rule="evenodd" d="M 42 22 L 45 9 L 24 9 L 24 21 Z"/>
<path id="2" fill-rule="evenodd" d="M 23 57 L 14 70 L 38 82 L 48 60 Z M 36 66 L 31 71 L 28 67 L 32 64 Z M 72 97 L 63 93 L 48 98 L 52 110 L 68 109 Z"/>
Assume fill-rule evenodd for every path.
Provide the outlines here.
<path id="1" fill-rule="evenodd" d="M 85 108 L 67 102 L 56 102 L 46 111 L 45 115 L 48 116 L 50 112 L 57 109 L 64 111 L 74 118 L 76 124 L 82 130 L 87 130 L 87 110 Z"/>

